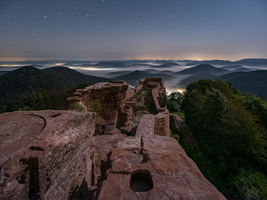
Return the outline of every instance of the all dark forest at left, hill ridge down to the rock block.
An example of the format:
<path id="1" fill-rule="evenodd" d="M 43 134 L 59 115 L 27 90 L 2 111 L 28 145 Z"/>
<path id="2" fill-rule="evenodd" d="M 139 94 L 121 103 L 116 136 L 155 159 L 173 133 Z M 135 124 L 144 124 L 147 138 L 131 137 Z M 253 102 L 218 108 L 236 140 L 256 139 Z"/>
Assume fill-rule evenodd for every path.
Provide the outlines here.
<path id="1" fill-rule="evenodd" d="M 0 113 L 15 110 L 68 109 L 79 88 L 107 81 L 63 66 L 40 70 L 25 66 L 0 75 Z"/>

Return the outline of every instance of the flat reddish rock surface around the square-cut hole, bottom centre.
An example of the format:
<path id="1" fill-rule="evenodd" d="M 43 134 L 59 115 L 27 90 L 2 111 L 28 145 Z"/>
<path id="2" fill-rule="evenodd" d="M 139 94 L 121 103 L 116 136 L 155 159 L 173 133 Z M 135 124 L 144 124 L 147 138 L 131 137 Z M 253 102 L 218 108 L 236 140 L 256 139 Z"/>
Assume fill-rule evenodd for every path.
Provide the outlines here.
<path id="1" fill-rule="evenodd" d="M 98 199 L 225 199 L 174 138 L 143 135 L 138 153 L 145 155 L 145 160 L 130 163 L 125 149 L 116 147 L 111 151 L 111 168 L 106 172 Z M 131 176 L 136 172 L 151 178 L 149 191 L 130 188 Z"/>

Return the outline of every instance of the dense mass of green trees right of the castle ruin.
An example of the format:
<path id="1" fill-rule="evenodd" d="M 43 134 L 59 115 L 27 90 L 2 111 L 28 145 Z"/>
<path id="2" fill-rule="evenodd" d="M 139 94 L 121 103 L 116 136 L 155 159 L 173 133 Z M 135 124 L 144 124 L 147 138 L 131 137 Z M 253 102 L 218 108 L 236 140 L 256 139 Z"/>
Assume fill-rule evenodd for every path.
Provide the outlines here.
<path id="1" fill-rule="evenodd" d="M 181 108 L 196 141 L 181 145 L 221 192 L 266 199 L 266 101 L 209 79 L 186 87 Z M 198 153 L 197 153 L 198 152 Z"/>

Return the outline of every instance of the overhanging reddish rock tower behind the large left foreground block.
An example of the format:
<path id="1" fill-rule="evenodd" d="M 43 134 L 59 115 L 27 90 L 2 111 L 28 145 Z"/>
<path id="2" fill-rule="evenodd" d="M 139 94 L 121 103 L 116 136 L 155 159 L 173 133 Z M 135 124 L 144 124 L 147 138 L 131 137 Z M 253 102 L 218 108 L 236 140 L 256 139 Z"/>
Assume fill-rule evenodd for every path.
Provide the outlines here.
<path id="1" fill-rule="evenodd" d="M 68 98 L 69 109 L 78 104 L 85 111 L 97 112 L 96 134 L 110 131 L 128 121 L 129 114 L 123 110 L 127 89 L 124 81 L 100 82 L 78 89 Z"/>

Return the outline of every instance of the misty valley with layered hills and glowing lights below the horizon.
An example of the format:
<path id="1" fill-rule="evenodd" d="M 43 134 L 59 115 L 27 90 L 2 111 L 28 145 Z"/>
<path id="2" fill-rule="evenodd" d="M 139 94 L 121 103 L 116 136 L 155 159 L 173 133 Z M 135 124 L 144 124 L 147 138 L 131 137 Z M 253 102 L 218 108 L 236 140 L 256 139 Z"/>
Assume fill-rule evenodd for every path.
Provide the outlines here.
<path id="1" fill-rule="evenodd" d="M 267 69 L 267 59 L 237 61 L 164 59 L 0 61 L 0 74 L 26 65 L 38 69 L 65 66 L 88 75 L 125 80 L 132 86 L 138 85 L 138 80 L 142 77 L 163 77 L 166 91 L 171 93 L 172 91 L 183 91 L 191 81 L 203 78 L 215 80 L 227 73 Z"/>

